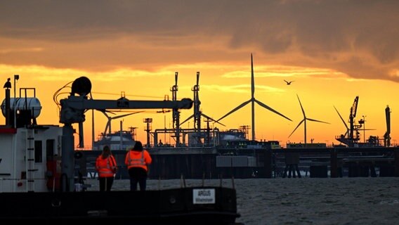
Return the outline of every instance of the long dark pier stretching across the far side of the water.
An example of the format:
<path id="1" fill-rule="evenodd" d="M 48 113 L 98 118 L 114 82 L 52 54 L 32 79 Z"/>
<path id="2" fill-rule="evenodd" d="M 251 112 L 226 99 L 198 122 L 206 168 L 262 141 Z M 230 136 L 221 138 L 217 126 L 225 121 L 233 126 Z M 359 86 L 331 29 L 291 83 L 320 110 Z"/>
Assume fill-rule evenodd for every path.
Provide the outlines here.
<path id="1" fill-rule="evenodd" d="M 96 176 L 100 150 L 75 151 L 81 174 Z M 119 172 L 128 179 L 126 150 L 113 150 Z M 312 178 L 399 176 L 399 148 L 153 148 L 149 179 Z M 289 168 L 292 168 L 291 174 Z M 296 172 L 296 175 L 295 175 Z M 284 176 L 285 174 L 285 176 Z"/>

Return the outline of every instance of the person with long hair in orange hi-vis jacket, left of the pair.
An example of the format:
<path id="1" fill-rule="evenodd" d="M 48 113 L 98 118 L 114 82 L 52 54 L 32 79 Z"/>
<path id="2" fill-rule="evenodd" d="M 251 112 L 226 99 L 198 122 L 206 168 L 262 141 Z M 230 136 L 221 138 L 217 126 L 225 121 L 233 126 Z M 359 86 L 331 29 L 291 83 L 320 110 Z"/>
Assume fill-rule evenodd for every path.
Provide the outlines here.
<path id="1" fill-rule="evenodd" d="M 118 167 L 109 146 L 104 146 L 103 153 L 98 155 L 96 169 L 98 172 L 98 181 L 100 181 L 100 191 L 111 191 Z"/>

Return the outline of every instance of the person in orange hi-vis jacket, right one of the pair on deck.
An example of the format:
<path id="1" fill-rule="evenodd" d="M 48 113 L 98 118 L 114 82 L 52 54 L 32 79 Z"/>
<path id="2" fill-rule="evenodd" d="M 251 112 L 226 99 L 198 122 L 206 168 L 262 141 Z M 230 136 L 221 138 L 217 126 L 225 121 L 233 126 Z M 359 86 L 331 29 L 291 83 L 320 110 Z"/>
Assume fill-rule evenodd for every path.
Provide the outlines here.
<path id="1" fill-rule="evenodd" d="M 136 141 L 133 148 L 126 153 L 125 164 L 130 177 L 130 191 L 137 191 L 137 184 L 140 191 L 145 191 L 147 186 L 148 165 L 152 158 L 148 150 L 143 149 L 143 144 Z"/>

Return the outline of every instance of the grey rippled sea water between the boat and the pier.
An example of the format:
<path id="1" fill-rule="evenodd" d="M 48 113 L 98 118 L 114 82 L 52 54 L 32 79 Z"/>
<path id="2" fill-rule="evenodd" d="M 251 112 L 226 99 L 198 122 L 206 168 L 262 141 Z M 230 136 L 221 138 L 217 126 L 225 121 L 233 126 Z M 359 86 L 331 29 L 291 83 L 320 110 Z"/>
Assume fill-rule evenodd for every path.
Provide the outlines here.
<path id="1" fill-rule="evenodd" d="M 202 180 L 186 180 L 201 186 Z M 89 179 L 89 190 L 98 180 Z M 176 188 L 181 180 L 148 180 L 148 189 Z M 204 180 L 218 186 L 217 179 Z M 223 179 L 237 190 L 236 222 L 259 224 L 399 224 L 398 177 Z M 112 190 L 129 190 L 129 180 L 115 180 Z"/>

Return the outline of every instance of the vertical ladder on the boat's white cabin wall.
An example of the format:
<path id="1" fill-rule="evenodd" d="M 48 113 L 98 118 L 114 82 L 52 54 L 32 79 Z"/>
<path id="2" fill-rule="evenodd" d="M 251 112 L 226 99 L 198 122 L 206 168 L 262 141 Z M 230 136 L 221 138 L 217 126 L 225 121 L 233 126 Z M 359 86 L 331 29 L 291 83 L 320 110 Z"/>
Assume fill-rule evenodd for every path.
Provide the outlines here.
<path id="1" fill-rule="evenodd" d="M 26 132 L 26 181 L 27 191 L 34 191 L 34 129 L 27 128 Z"/>

